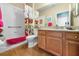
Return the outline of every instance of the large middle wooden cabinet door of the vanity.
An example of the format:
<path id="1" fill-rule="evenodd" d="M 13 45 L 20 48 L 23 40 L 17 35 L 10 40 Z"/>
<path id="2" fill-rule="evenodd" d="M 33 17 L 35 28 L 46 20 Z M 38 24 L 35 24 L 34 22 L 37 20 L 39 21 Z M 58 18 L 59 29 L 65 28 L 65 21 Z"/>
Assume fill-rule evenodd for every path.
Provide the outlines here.
<path id="1" fill-rule="evenodd" d="M 62 55 L 62 40 L 60 38 L 46 37 L 46 49 L 55 55 Z"/>

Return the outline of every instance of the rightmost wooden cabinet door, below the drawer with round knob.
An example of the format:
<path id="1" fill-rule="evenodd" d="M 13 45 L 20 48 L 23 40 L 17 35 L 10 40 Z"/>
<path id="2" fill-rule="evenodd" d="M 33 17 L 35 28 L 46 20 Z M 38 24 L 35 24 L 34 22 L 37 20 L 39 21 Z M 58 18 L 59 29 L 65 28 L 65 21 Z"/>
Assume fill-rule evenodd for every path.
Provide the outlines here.
<path id="1" fill-rule="evenodd" d="M 67 56 L 79 56 L 79 42 L 66 41 L 66 55 Z"/>

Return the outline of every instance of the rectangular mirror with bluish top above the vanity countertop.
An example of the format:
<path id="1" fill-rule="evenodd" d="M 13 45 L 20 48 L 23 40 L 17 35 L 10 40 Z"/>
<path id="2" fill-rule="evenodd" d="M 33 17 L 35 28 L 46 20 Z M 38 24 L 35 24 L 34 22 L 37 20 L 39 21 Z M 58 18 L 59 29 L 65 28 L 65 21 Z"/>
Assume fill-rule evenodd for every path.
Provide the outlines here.
<path id="1" fill-rule="evenodd" d="M 71 26 L 69 11 L 57 13 L 57 26 Z"/>

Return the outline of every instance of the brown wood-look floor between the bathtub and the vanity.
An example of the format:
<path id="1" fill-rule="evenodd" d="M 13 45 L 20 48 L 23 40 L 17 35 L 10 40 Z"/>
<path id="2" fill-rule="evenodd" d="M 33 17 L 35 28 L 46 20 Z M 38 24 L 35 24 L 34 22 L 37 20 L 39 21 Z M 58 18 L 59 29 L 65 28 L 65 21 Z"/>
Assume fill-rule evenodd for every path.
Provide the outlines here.
<path id="1" fill-rule="evenodd" d="M 0 56 L 51 56 L 51 54 L 38 48 L 37 46 L 33 48 L 27 48 L 25 45 L 1 53 Z"/>

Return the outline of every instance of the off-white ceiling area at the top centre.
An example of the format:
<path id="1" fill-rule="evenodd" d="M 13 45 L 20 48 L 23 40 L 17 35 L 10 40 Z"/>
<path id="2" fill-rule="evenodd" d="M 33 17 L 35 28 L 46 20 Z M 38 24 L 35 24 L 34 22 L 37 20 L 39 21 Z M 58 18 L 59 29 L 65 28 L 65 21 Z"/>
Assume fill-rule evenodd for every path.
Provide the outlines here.
<path id="1" fill-rule="evenodd" d="M 55 5 L 55 3 L 26 3 L 26 4 L 31 7 L 33 7 L 33 4 L 34 4 L 34 9 L 38 11 L 42 11 L 46 8 L 49 8 Z"/>

